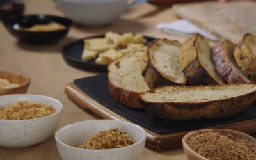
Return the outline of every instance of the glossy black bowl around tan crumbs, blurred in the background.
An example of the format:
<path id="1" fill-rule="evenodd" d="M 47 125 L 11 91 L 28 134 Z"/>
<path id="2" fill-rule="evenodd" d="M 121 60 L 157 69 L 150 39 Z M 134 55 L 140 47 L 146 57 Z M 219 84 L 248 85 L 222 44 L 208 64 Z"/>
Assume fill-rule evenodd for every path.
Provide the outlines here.
<path id="1" fill-rule="evenodd" d="M 22 31 L 17 28 L 29 28 L 35 24 L 51 24 L 58 22 L 65 26 L 65 29 L 58 31 Z M 72 20 L 64 17 L 58 17 L 53 15 L 26 15 L 22 17 L 11 17 L 10 19 L 4 19 L 4 25 L 8 31 L 15 36 L 20 42 L 27 42 L 30 44 L 49 44 L 56 42 L 67 35 L 70 26 L 72 26 Z M 17 28 L 15 28 L 17 27 Z"/>

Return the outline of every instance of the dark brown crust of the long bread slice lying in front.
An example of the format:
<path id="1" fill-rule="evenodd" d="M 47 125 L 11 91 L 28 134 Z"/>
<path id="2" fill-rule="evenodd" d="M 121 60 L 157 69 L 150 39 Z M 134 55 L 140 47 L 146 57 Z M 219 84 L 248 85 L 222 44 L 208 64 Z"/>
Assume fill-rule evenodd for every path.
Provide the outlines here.
<path id="1" fill-rule="evenodd" d="M 191 89 L 195 88 L 195 86 L 190 87 Z M 147 92 L 154 92 L 154 90 L 156 89 L 157 88 L 148 90 Z M 244 108 L 250 106 L 251 104 L 253 104 L 253 102 L 255 102 L 256 91 L 246 93 L 238 97 L 232 97 L 229 99 L 193 103 L 148 102 L 147 100 L 144 100 L 142 96 L 143 94 L 141 94 L 139 99 L 142 108 L 158 118 L 164 118 L 169 120 L 191 120 L 202 118 L 221 118 L 225 116 L 235 115 L 236 113 L 239 113 Z"/>

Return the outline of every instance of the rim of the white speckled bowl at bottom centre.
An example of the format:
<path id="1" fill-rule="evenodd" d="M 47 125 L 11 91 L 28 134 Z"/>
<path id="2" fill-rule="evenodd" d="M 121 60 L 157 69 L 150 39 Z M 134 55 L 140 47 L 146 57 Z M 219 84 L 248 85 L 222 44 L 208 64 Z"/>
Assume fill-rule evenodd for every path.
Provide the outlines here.
<path id="1" fill-rule="evenodd" d="M 84 121 L 81 121 L 81 122 L 76 122 L 76 123 L 73 123 L 73 124 L 68 124 L 68 125 L 65 125 L 64 127 L 61 127 L 61 129 L 59 129 L 56 133 L 55 133 L 55 140 L 58 142 L 58 143 L 61 143 L 61 145 L 64 145 L 65 147 L 68 147 L 68 148 L 71 148 L 71 149 L 75 149 L 75 150 L 84 150 L 84 151 L 87 151 L 87 152 L 109 152 L 109 150 L 124 150 L 124 148 L 129 148 L 129 147 L 134 147 L 134 145 L 138 145 L 139 143 L 141 143 L 142 141 L 144 141 L 146 138 L 147 138 L 147 133 L 146 131 L 140 127 L 139 125 L 136 125 L 136 124 L 132 124 L 136 127 L 138 127 L 138 129 L 140 129 L 141 131 L 144 132 L 145 136 L 138 142 L 132 144 L 132 145 L 129 145 L 129 146 L 126 146 L 126 147 L 121 147 L 121 148 L 113 148 L 113 149 L 106 149 L 106 150 L 89 150 L 89 149 L 83 149 L 83 148 L 77 148 L 77 147 L 72 147 L 70 145 L 67 145 L 65 143 L 63 143 L 62 141 L 58 140 L 57 138 L 57 135 L 58 135 L 58 132 L 60 132 L 61 130 L 69 127 L 70 125 L 74 125 L 74 124 L 82 124 L 84 122 L 93 122 L 93 121 L 109 121 L 109 122 L 114 122 L 114 121 L 120 121 L 120 122 L 124 122 L 126 124 L 132 124 L 130 122 L 125 122 L 125 121 L 122 121 L 122 120 L 84 120 Z"/>

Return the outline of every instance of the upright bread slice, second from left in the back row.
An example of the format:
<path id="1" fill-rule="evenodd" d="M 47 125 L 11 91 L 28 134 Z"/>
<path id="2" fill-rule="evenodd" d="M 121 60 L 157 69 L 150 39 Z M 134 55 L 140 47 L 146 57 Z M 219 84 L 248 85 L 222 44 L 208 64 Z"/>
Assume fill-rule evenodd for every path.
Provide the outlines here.
<path id="1" fill-rule="evenodd" d="M 154 40 L 147 49 L 148 63 L 143 77 L 150 88 L 186 84 L 179 63 L 181 44 L 167 39 Z"/>

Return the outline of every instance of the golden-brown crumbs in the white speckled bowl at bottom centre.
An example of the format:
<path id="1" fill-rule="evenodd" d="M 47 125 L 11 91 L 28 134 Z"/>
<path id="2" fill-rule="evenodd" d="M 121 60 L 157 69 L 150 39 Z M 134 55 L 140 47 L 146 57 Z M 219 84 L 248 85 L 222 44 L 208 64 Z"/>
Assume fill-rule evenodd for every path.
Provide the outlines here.
<path id="1" fill-rule="evenodd" d="M 99 134 L 90 136 L 83 145 L 78 145 L 77 148 L 105 150 L 126 147 L 134 143 L 135 141 L 129 138 L 129 134 L 125 134 L 124 131 L 119 131 L 118 128 L 115 128 L 108 131 L 100 131 Z"/>

